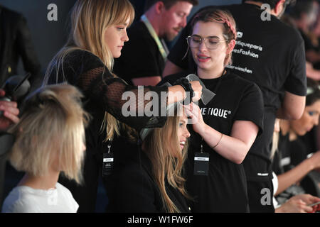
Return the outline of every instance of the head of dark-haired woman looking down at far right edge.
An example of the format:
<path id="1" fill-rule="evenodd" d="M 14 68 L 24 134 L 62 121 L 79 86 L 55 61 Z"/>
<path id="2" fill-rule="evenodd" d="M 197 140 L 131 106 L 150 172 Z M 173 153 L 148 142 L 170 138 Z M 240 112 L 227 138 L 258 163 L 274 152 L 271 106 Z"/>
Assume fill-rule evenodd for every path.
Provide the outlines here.
<path id="1" fill-rule="evenodd" d="M 320 114 L 320 90 L 316 82 L 309 81 L 308 94 L 306 95 L 306 107 L 299 120 L 289 121 L 290 128 L 297 135 L 304 135 L 319 123 Z"/>

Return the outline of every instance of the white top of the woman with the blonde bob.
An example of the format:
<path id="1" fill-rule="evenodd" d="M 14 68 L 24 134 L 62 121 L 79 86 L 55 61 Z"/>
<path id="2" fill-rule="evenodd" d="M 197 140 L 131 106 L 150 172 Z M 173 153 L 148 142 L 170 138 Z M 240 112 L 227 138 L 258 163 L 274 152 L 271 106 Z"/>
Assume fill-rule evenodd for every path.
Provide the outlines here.
<path id="1" fill-rule="evenodd" d="M 4 200 L 3 213 L 75 213 L 79 205 L 62 184 L 55 189 L 33 189 L 18 186 Z"/>

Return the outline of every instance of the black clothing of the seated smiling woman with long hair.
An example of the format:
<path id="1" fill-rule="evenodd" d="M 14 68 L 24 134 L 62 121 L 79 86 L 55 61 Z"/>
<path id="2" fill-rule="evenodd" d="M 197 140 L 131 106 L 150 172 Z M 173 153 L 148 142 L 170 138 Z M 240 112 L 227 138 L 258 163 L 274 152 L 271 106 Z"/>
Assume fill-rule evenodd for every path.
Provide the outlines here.
<path id="1" fill-rule="evenodd" d="M 132 152 L 132 150 L 131 150 Z M 140 155 L 139 155 L 140 154 Z M 135 152 L 136 157 L 114 171 L 113 190 L 110 190 L 109 212 L 164 213 L 159 188 L 151 175 L 152 166 L 144 152 Z M 166 181 L 166 193 L 183 213 L 190 212 L 184 196 Z"/>

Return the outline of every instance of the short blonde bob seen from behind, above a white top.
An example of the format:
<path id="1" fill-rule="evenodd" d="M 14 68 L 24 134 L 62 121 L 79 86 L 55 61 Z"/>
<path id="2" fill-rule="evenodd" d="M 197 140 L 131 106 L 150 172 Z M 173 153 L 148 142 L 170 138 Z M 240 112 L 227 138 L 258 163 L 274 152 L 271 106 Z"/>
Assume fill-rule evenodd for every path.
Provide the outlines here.
<path id="1" fill-rule="evenodd" d="M 42 87 L 26 99 L 21 120 L 9 130 L 16 136 L 9 153 L 16 170 L 43 176 L 58 157 L 58 170 L 82 182 L 88 115 L 81 98 L 75 87 L 57 84 Z"/>

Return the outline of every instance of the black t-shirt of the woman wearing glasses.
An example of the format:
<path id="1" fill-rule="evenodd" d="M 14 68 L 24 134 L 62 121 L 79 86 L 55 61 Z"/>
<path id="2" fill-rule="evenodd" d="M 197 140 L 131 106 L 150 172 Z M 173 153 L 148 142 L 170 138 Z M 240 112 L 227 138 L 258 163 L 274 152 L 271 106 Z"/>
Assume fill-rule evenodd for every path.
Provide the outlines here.
<path id="1" fill-rule="evenodd" d="M 171 84 L 186 73 L 164 78 Z M 220 85 L 216 89 L 219 80 Z M 212 128 L 230 135 L 234 121 L 252 121 L 263 128 L 262 94 L 256 84 L 227 72 L 218 79 L 201 79 L 215 97 L 204 106 L 199 102 L 203 120 Z M 247 187 L 242 165 L 225 159 L 203 142 L 203 151 L 210 155 L 209 175 L 193 175 L 195 153 L 200 152 L 201 136 L 191 129 L 191 143 L 186 164 L 187 189 L 195 202 L 193 212 L 246 212 Z"/>

